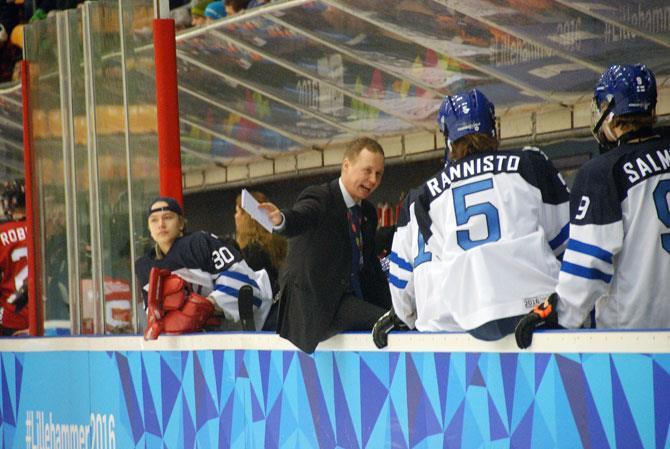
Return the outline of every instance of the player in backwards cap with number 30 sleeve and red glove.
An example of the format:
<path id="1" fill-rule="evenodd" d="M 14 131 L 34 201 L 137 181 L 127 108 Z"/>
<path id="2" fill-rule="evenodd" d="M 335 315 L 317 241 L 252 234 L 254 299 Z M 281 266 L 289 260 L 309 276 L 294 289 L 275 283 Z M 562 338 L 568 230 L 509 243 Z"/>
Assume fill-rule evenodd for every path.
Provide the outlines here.
<path id="1" fill-rule="evenodd" d="M 249 268 L 233 242 L 202 231 L 184 234 L 185 223 L 176 200 L 152 201 L 148 225 L 155 248 L 135 263 L 140 285 L 148 290 L 145 338 L 201 330 L 216 313 L 233 322 L 242 318 L 243 324 L 250 318 L 253 328 L 261 329 L 272 303 L 265 270 Z M 238 296 L 249 288 L 252 294 L 241 296 L 253 303 L 245 301 L 247 309 Z M 245 310 L 253 316 L 244 316 Z"/>

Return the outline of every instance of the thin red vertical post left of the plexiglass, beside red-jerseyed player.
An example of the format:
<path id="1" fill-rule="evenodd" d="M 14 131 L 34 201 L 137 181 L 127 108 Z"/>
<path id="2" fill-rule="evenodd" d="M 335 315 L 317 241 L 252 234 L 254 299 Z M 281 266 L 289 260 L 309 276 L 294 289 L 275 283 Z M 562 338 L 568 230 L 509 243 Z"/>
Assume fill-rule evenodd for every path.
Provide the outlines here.
<path id="1" fill-rule="evenodd" d="M 37 248 L 39 248 L 39 210 L 33 195 L 33 121 L 30 103 L 30 66 L 21 61 L 21 96 L 23 98 L 23 168 L 26 188 L 26 227 L 28 228 L 28 310 L 30 335 L 44 335 L 44 312 L 42 296 L 37 283 L 37 270 L 40 266 Z"/>

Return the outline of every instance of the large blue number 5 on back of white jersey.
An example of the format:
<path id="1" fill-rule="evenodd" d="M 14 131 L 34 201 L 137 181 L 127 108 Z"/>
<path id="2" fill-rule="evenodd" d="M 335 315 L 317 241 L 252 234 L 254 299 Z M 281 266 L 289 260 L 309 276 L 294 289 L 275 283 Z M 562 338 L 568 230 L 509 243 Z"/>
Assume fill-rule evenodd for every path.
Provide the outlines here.
<path id="1" fill-rule="evenodd" d="M 453 190 L 454 195 L 454 211 L 456 212 L 456 224 L 462 226 L 470 221 L 471 217 L 476 215 L 484 215 L 486 218 L 486 237 L 479 240 L 472 240 L 470 231 L 456 231 L 456 241 L 458 246 L 464 250 L 475 248 L 488 242 L 495 242 L 500 240 L 500 217 L 498 216 L 498 209 L 488 201 L 465 205 L 465 197 L 477 192 L 483 192 L 493 188 L 492 179 L 484 179 L 477 182 L 472 182 L 464 186 L 456 187 Z"/>

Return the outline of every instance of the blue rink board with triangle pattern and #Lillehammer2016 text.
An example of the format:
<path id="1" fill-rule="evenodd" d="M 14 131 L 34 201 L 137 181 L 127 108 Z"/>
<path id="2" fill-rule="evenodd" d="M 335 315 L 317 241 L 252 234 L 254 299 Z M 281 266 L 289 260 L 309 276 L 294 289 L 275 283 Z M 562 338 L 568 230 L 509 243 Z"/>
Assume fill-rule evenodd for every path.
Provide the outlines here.
<path id="1" fill-rule="evenodd" d="M 2 448 L 670 448 L 670 354 L 3 352 Z"/>

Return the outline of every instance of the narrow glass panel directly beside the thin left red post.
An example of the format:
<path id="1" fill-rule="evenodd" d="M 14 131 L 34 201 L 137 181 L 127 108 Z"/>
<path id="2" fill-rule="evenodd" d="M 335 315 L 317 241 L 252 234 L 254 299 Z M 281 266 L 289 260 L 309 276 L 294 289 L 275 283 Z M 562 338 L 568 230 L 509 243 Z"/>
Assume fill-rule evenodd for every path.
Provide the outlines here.
<path id="1" fill-rule="evenodd" d="M 30 61 L 35 200 L 40 216 L 39 275 L 45 321 L 69 323 L 71 269 L 68 259 L 67 207 L 61 77 L 57 18 L 24 29 L 25 57 Z M 67 60 L 67 55 L 63 55 Z M 37 221 L 36 220 L 36 221 Z"/>

